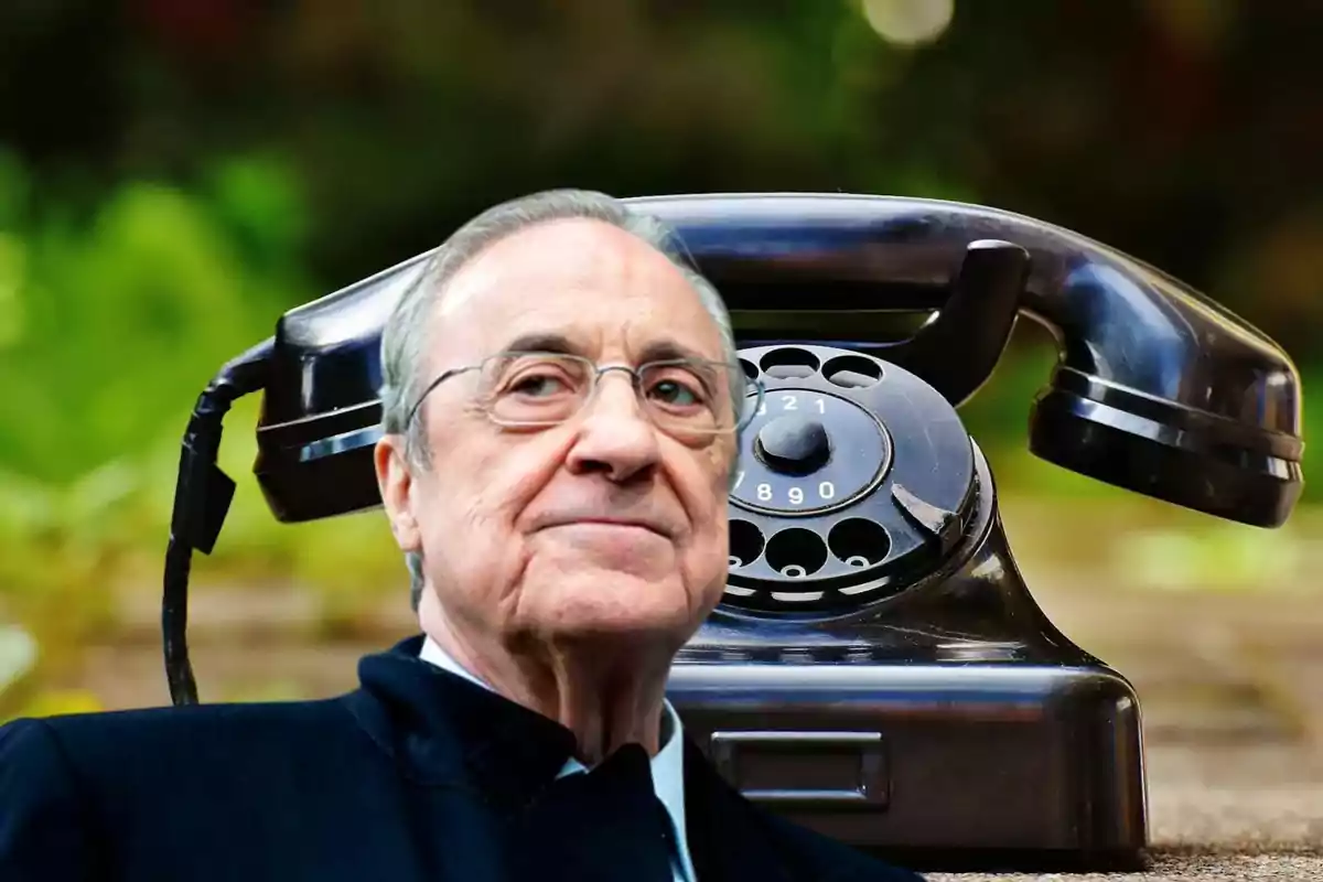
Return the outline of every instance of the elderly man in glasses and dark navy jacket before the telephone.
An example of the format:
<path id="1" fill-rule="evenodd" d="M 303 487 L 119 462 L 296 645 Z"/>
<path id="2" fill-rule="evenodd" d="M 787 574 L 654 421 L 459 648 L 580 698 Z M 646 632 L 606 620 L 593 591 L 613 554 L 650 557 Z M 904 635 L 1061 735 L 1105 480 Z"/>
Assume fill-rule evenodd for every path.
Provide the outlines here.
<path id="1" fill-rule="evenodd" d="M 422 635 L 335 700 L 0 730 L 0 878 L 917 878 L 744 800 L 665 701 L 725 584 L 746 411 L 675 247 L 590 193 L 460 229 L 382 344 Z"/>

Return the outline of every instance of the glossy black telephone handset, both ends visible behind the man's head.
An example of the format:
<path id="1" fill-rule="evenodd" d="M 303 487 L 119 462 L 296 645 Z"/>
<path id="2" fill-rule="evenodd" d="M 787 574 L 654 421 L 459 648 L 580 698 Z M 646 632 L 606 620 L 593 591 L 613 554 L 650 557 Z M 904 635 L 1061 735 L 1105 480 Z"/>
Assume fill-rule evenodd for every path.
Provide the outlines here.
<path id="1" fill-rule="evenodd" d="M 1007 212 L 845 194 L 627 200 L 668 221 L 744 345 L 831 342 L 917 374 L 951 405 L 988 378 L 1017 315 L 1060 362 L 1033 405 L 1037 456 L 1218 517 L 1279 526 L 1302 489 L 1295 366 L 1199 292 L 1105 245 Z M 427 254 L 282 316 L 258 480 L 282 521 L 380 502 L 378 345 Z M 933 312 L 878 342 L 885 313 Z M 872 337 L 872 339 L 871 339 Z"/>

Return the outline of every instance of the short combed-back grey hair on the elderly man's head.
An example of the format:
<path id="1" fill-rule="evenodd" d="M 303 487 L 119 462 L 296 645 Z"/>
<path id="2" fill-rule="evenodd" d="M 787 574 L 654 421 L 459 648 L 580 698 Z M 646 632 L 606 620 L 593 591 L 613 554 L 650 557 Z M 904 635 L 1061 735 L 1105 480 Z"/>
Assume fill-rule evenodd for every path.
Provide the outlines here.
<path id="1" fill-rule="evenodd" d="M 405 455 L 411 467 L 431 465 L 431 452 L 427 450 L 426 432 L 422 430 L 425 405 L 419 407 L 411 423 L 409 411 L 418 401 L 426 382 L 422 366 L 427 350 L 427 320 L 446 284 L 468 262 L 500 239 L 538 223 L 577 218 L 610 223 L 636 235 L 667 257 L 693 287 L 704 309 L 716 323 L 721 333 L 722 358 L 732 365 L 737 364 L 734 332 L 726 304 L 712 283 L 691 266 L 684 243 L 667 223 L 639 213 L 605 193 L 589 190 L 548 190 L 503 202 L 459 227 L 433 253 L 422 271 L 401 295 L 386 321 L 381 337 L 382 428 L 388 434 L 405 436 Z M 744 372 L 732 372 L 730 399 L 736 413 L 742 409 L 745 383 Z M 736 448 L 738 451 L 738 444 Z M 732 480 L 734 475 L 732 469 Z M 422 558 L 417 553 L 409 553 L 405 555 L 405 562 L 413 583 L 413 606 L 417 610 L 423 588 Z"/>

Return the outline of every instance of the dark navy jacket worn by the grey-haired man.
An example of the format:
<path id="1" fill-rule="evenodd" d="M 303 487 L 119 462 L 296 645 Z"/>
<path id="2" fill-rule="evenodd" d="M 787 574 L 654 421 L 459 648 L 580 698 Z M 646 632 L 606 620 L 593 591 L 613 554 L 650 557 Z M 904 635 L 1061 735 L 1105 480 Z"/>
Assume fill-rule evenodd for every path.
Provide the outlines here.
<path id="1" fill-rule="evenodd" d="M 419 647 L 364 657 L 361 686 L 332 700 L 9 723 L 0 879 L 566 878 L 556 844 L 512 832 L 511 819 L 556 778 L 573 735 L 418 659 Z M 699 882 L 919 878 L 762 811 L 692 743 L 684 763 Z M 618 878 L 638 879 L 628 856 Z"/>

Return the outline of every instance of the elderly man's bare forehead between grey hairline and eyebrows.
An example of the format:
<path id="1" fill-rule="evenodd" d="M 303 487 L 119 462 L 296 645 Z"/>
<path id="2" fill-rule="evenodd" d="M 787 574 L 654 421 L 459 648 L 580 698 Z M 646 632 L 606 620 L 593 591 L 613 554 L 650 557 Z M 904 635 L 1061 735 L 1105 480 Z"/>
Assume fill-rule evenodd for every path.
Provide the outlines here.
<path id="1" fill-rule="evenodd" d="M 632 364 L 724 356 L 720 329 L 679 267 L 590 220 L 541 223 L 491 245 L 451 278 L 430 323 L 433 369 L 505 349 Z"/>

